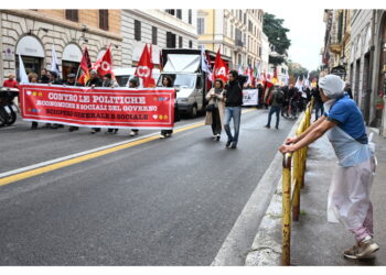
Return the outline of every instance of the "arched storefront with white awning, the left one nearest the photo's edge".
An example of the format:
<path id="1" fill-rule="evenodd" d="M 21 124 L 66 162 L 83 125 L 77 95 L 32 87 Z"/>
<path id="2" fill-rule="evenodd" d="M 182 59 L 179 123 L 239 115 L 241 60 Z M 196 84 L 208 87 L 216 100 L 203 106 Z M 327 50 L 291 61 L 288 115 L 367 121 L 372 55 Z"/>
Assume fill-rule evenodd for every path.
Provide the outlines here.
<path id="1" fill-rule="evenodd" d="M 23 36 L 18 42 L 15 51 L 17 78 L 19 78 L 19 54 L 24 63 L 26 74 L 35 73 L 40 76 L 44 64 L 44 48 L 41 42 L 32 35 Z"/>

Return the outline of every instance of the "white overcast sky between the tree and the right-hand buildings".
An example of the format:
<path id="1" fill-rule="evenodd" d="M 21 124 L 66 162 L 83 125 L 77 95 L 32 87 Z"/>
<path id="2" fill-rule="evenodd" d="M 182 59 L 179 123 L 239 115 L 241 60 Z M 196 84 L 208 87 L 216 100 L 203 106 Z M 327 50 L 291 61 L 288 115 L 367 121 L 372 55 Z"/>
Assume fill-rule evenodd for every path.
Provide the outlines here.
<path id="1" fill-rule="evenodd" d="M 264 9 L 264 11 L 283 19 L 285 28 L 290 30 L 287 33 L 291 40 L 289 58 L 309 70 L 317 69 L 321 65 L 320 51 L 324 43 L 323 9 L 312 9 L 308 6 L 307 12 L 303 12 L 303 9 L 299 9 L 299 12 L 288 9 Z"/>

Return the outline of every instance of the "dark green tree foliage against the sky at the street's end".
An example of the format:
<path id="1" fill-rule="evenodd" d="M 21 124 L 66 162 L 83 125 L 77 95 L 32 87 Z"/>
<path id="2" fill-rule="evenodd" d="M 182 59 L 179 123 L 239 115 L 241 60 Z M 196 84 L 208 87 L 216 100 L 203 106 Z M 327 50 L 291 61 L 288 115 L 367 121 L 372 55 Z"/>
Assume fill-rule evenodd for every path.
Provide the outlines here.
<path id="1" fill-rule="evenodd" d="M 291 45 L 291 41 L 287 37 L 289 30 L 282 26 L 283 22 L 285 20 L 277 19 L 274 14 L 264 14 L 262 31 L 278 54 L 285 54 Z"/>

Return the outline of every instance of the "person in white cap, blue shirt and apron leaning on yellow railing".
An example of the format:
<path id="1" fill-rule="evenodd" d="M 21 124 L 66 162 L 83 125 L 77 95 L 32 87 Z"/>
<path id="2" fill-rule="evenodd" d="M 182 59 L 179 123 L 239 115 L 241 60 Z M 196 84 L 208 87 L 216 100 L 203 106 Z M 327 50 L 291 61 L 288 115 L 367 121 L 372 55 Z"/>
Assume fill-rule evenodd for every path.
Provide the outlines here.
<path id="1" fill-rule="evenodd" d="M 375 150 L 367 139 L 363 114 L 344 92 L 344 86 L 339 76 L 322 77 L 319 87 L 324 116 L 302 134 L 287 139 L 279 151 L 296 152 L 328 132 L 339 160 L 330 186 L 328 220 L 340 221 L 355 235 L 356 244 L 344 250 L 345 257 L 372 258 L 379 250 L 374 242 L 373 205 L 369 200 L 376 168 Z"/>

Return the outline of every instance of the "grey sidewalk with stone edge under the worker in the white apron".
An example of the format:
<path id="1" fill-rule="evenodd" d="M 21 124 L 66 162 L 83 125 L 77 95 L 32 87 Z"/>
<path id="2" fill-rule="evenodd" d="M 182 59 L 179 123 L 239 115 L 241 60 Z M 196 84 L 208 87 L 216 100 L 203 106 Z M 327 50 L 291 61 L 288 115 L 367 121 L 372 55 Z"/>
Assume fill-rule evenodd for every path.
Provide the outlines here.
<path id="1" fill-rule="evenodd" d="M 368 133 L 371 131 L 368 129 Z M 342 256 L 341 252 L 354 244 L 354 238 L 340 223 L 326 220 L 328 193 L 336 157 L 323 136 L 309 148 L 300 198 L 301 216 L 298 222 L 292 222 L 291 265 L 386 265 L 386 139 L 374 133 L 373 142 L 376 143 L 378 160 L 372 188 L 375 241 L 380 246 L 377 257 L 358 262 Z M 281 182 L 261 221 L 246 265 L 281 265 Z"/>

